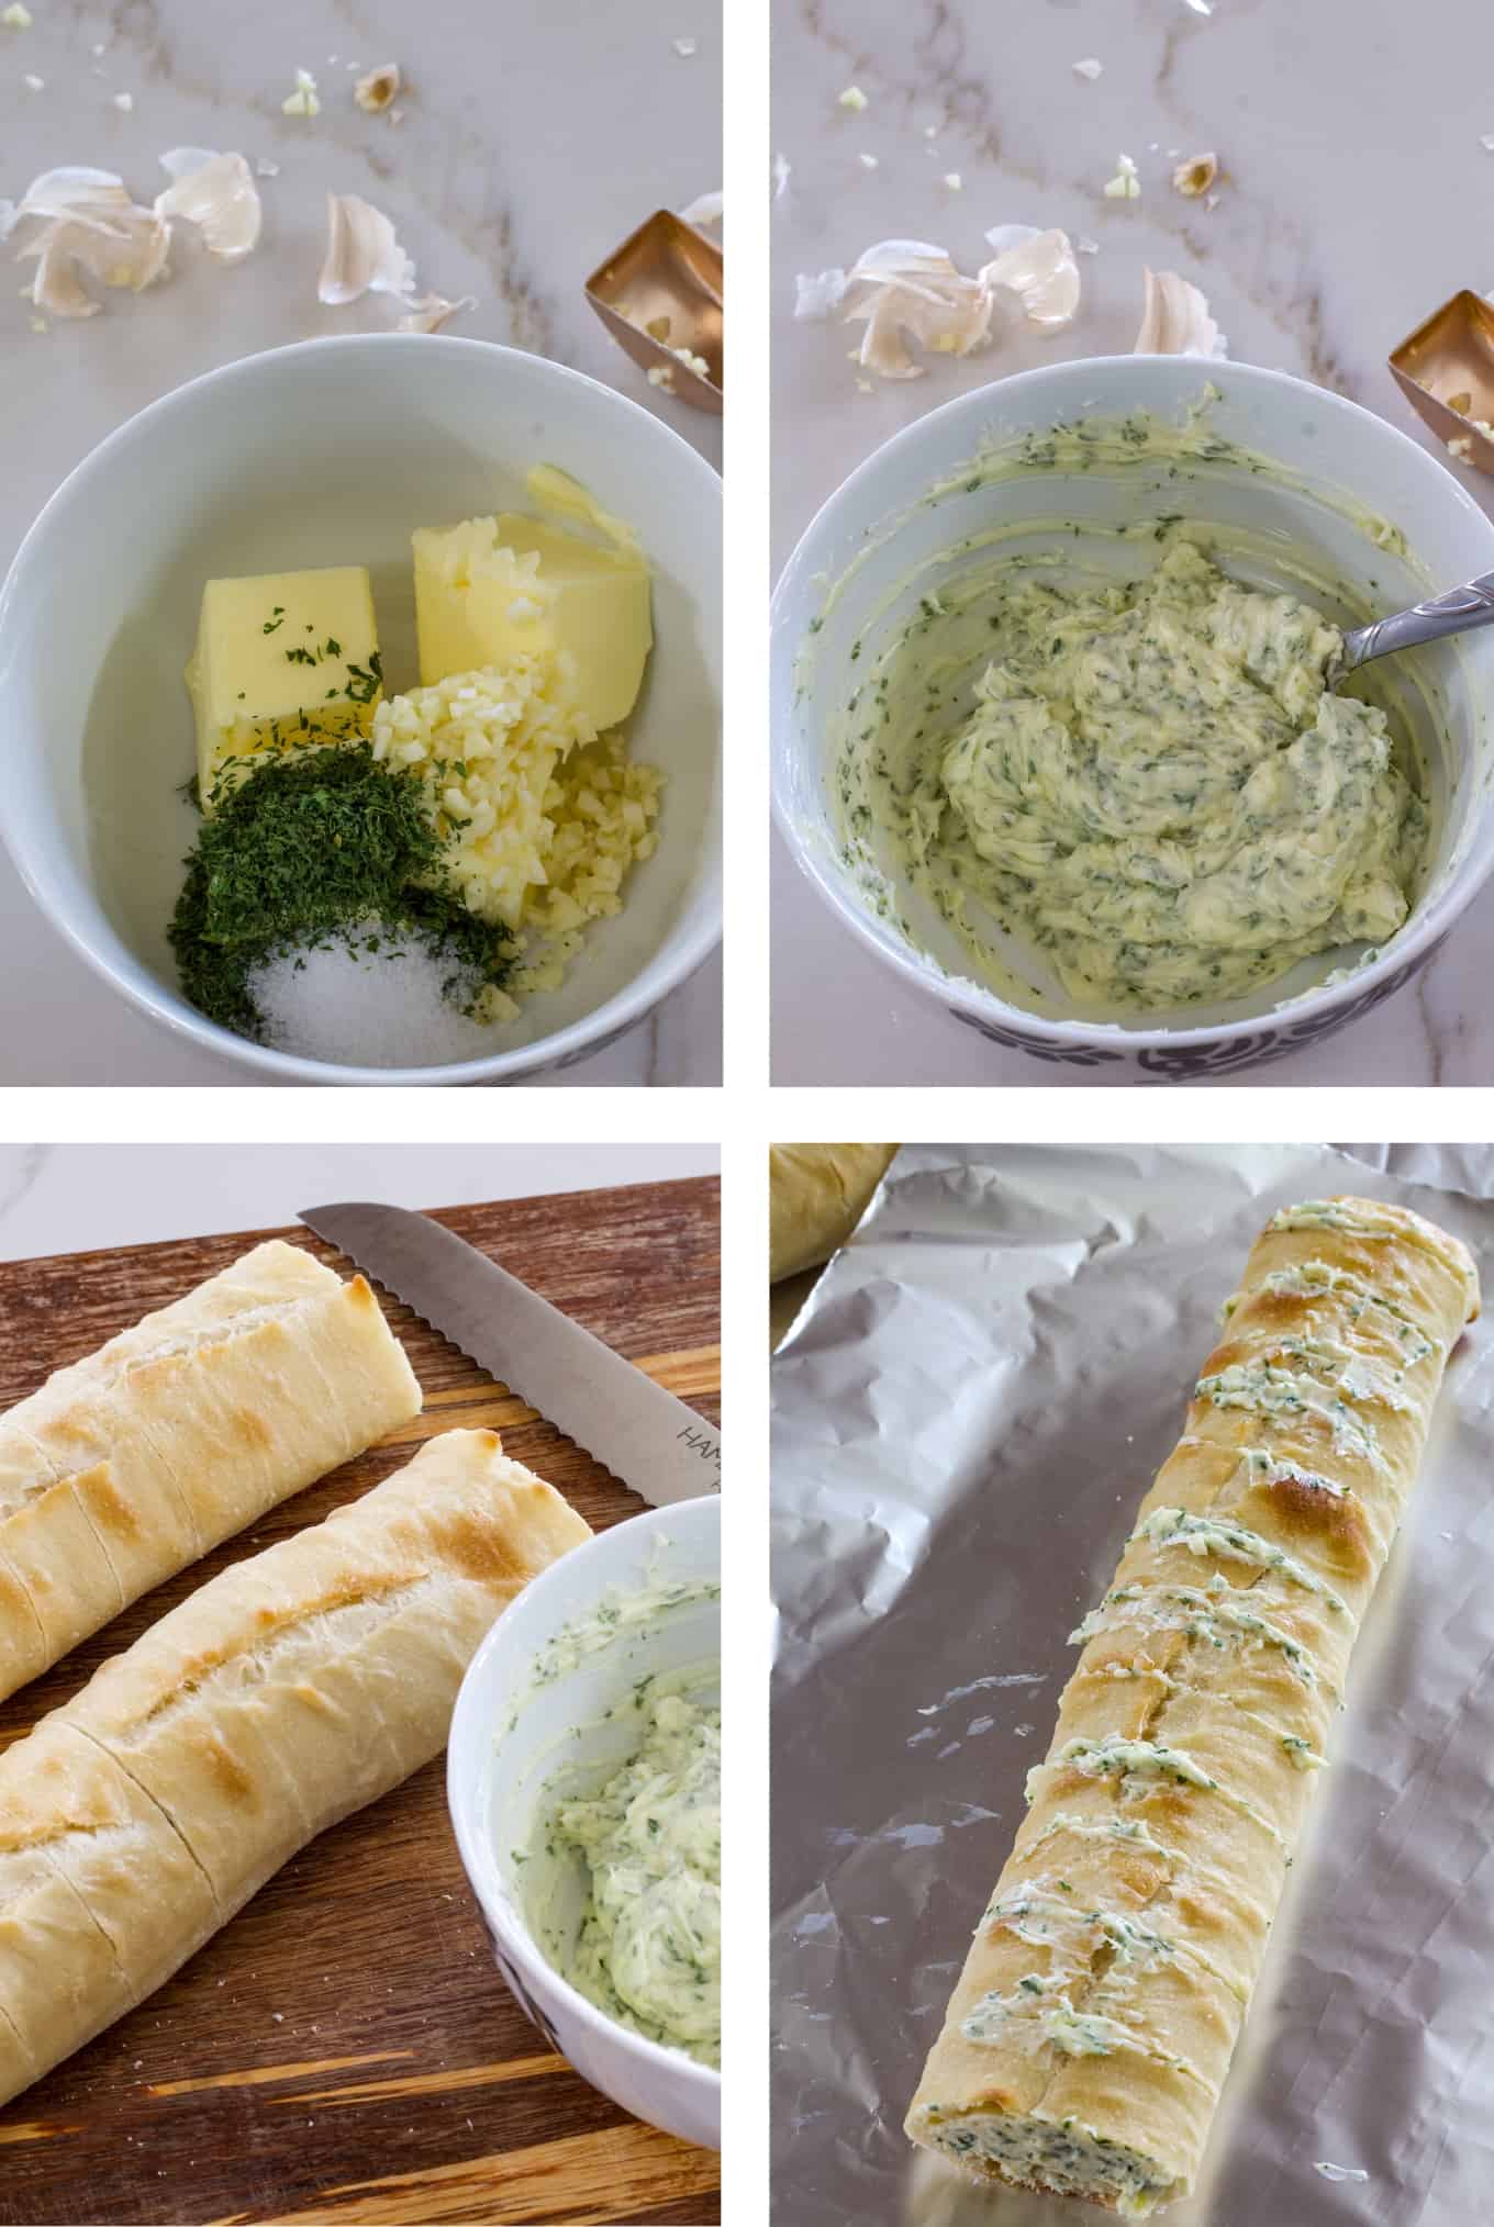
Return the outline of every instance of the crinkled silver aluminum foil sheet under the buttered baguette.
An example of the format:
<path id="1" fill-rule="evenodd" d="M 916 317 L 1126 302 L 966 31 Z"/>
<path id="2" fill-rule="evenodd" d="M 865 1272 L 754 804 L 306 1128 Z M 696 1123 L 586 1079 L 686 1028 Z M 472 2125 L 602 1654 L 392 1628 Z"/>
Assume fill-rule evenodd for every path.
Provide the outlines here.
<path id="1" fill-rule="evenodd" d="M 1372 1147 L 1356 1147 L 1372 1156 Z M 1494 2220 L 1494 1154 L 904 1147 L 773 1365 L 775 2227 L 1078 2227 L 902 2118 L 1046 1753 L 1067 1632 L 1265 1218 L 1463 1236 L 1458 1345 L 1205 2178 L 1169 2227 Z M 1434 1185 L 1452 1183 L 1452 1189 Z"/>

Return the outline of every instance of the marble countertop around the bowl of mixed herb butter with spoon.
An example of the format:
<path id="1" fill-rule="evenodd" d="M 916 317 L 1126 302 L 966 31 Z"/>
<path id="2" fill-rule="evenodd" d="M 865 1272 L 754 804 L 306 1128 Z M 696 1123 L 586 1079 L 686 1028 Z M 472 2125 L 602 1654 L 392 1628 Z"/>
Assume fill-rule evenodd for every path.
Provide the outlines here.
<path id="1" fill-rule="evenodd" d="M 1418 22 L 1427 36 L 1418 36 Z M 775 563 L 873 448 L 942 401 L 1064 354 L 1124 352 L 1142 265 L 1205 290 L 1236 361 L 1316 379 L 1436 448 L 1387 352 L 1458 287 L 1494 281 L 1494 131 L 1476 0 L 779 0 L 773 147 L 790 165 L 773 207 Z M 1073 65 L 1093 56 L 1098 80 Z M 868 107 L 837 107 L 859 85 Z M 931 131 L 933 127 L 933 131 Z M 1120 151 L 1142 198 L 1107 200 Z M 1171 192 L 1182 156 L 1216 149 L 1218 205 Z M 875 169 L 862 163 L 875 156 Z M 946 174 L 960 178 L 951 189 Z M 859 327 L 795 323 L 795 272 L 851 265 L 879 238 L 922 238 L 973 269 L 989 225 L 1062 225 L 1084 303 L 1055 341 L 935 359 L 926 379 L 862 394 Z M 1461 479 L 1494 514 L 1494 479 Z M 775 1082 L 1104 1085 L 1038 1067 L 915 1000 L 837 926 L 775 837 Z M 1416 984 L 1367 1020 L 1231 1087 L 1487 1082 L 1481 1031 L 1494 886 Z M 868 1013 L 875 1024 L 868 1027 Z M 1209 1087 L 1209 1085 L 1205 1085 Z"/>

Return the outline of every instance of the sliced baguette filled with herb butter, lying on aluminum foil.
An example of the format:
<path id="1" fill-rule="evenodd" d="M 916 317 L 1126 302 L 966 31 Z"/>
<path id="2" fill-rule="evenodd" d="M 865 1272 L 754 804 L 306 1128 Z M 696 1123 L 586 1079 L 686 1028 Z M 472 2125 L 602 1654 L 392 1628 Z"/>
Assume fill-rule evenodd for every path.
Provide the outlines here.
<path id="1" fill-rule="evenodd" d="M 1127 2218 L 1185 2196 L 1447 1354 L 1465 1247 L 1271 1218 L 1115 1579 L 917 2096 L 915 2142 Z"/>

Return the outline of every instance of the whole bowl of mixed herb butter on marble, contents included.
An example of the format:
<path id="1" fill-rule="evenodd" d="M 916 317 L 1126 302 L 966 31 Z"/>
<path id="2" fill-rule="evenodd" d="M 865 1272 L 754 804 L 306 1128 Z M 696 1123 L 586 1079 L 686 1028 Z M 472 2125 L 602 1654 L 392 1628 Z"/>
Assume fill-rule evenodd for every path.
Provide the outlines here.
<path id="1" fill-rule="evenodd" d="M 775 811 L 839 920 L 993 1042 L 1113 1080 L 1378 1004 L 1490 869 L 1494 632 L 1329 693 L 1340 630 L 1494 566 L 1383 419 L 1113 356 L 933 410 L 773 608 Z"/>

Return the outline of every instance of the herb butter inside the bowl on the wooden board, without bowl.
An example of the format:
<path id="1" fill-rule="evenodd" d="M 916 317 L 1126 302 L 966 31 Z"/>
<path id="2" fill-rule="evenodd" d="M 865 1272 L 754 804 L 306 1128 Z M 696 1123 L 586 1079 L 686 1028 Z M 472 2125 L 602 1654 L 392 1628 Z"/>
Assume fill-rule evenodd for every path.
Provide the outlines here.
<path id="1" fill-rule="evenodd" d="M 572 1986 L 655 2042 L 721 2062 L 721 1713 L 650 1679 L 643 1742 L 552 1840 L 579 1848 L 592 1891 Z"/>

